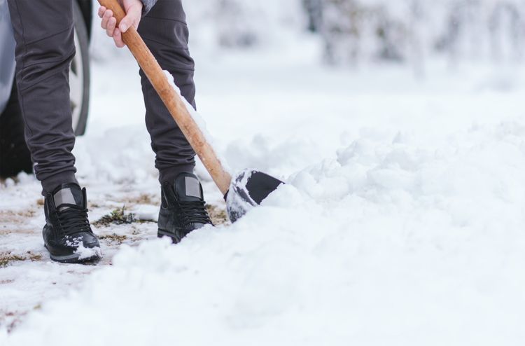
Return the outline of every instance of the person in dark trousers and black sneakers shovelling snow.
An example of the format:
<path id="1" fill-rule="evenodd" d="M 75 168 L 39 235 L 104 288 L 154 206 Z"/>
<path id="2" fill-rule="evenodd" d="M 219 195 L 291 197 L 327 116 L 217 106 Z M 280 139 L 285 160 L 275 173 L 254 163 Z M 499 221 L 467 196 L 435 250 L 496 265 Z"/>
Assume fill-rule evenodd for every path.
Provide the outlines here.
<path id="1" fill-rule="evenodd" d="M 102 253 L 88 219 L 86 189 L 78 185 L 71 153 L 75 143 L 68 81 L 75 55 L 72 1 L 8 0 L 8 6 L 25 137 L 45 197 L 44 244 L 52 260 L 81 263 L 96 261 Z M 121 48 L 123 32 L 137 28 L 162 69 L 172 74 L 183 97 L 195 107 L 194 62 L 181 0 L 119 1 L 126 15 L 118 27 L 111 10 L 99 8 L 106 33 Z M 211 224 L 202 185 L 193 173 L 195 152 L 143 71 L 139 74 L 161 184 L 158 236 L 179 242 L 191 231 Z"/>

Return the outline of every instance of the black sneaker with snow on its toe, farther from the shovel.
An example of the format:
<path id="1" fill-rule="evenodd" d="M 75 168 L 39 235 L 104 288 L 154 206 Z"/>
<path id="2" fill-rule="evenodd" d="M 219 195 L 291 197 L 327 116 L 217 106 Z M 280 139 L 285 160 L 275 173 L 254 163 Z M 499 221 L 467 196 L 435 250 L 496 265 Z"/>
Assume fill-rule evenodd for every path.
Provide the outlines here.
<path id="1" fill-rule="evenodd" d="M 102 256 L 87 219 L 85 188 L 62 184 L 45 196 L 43 239 L 53 261 L 83 263 Z"/>

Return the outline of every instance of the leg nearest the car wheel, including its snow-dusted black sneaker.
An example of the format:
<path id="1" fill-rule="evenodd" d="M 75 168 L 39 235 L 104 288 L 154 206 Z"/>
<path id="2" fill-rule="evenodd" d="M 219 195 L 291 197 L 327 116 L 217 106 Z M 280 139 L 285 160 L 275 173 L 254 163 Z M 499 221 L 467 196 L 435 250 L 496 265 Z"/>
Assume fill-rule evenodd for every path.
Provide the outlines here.
<path id="1" fill-rule="evenodd" d="M 73 0 L 8 0 L 16 41 L 16 81 L 25 136 L 45 196 L 43 240 L 54 261 L 100 258 L 85 189 L 71 153 L 69 64 L 75 55 Z"/>

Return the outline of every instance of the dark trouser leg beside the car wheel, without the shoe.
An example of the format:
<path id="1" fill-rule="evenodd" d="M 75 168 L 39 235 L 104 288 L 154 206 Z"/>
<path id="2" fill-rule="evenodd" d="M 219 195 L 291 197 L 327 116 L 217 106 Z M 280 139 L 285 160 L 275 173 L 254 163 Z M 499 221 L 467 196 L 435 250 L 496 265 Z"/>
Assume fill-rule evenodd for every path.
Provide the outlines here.
<path id="1" fill-rule="evenodd" d="M 25 137 L 44 192 L 76 183 L 69 64 L 75 55 L 72 0 L 8 0 Z"/>

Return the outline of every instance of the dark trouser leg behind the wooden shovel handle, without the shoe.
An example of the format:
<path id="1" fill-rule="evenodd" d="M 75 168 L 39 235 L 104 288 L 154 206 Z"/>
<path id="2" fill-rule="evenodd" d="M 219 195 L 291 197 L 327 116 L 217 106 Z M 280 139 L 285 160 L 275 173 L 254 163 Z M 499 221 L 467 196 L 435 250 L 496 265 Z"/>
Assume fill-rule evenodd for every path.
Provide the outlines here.
<path id="1" fill-rule="evenodd" d="M 142 18 L 139 34 L 150 48 L 162 69 L 174 76 L 183 97 L 195 107 L 194 63 L 188 50 L 188 27 L 181 0 L 159 0 Z M 167 111 L 153 86 L 140 71 L 146 127 L 155 151 L 155 167 L 160 172 L 160 182 L 174 179 L 181 172 L 193 172 L 195 152 Z"/>

